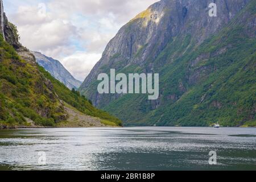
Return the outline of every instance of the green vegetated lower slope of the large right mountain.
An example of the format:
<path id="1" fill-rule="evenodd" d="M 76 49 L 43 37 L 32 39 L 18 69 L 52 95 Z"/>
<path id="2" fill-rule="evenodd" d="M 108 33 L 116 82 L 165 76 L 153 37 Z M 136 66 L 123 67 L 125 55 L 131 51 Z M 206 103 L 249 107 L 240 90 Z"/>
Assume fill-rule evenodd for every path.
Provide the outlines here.
<path id="1" fill-rule="evenodd" d="M 252 1 L 218 35 L 199 47 L 190 35 L 174 38 L 154 60 L 162 91 L 158 109 L 152 109 L 151 102 L 140 94 L 127 94 L 104 109 L 126 125 L 209 126 L 218 121 L 225 126 L 255 126 L 256 40 L 247 34 L 254 16 Z M 210 56 L 191 65 L 207 54 Z M 191 84 L 188 77 L 196 72 L 200 79 Z M 185 92 L 179 89 L 180 83 Z"/>

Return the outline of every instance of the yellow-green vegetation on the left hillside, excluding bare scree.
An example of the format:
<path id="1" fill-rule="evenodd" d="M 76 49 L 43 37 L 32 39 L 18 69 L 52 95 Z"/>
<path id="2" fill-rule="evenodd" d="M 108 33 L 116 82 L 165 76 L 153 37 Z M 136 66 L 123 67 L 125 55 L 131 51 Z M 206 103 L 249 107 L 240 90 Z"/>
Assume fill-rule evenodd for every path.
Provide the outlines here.
<path id="1" fill-rule="evenodd" d="M 55 126 L 67 119 L 59 99 L 84 114 L 122 125 L 119 119 L 96 109 L 79 93 L 71 92 L 42 67 L 22 60 L 0 36 L 0 125 L 29 126 L 26 118 L 30 118 L 36 125 Z"/>

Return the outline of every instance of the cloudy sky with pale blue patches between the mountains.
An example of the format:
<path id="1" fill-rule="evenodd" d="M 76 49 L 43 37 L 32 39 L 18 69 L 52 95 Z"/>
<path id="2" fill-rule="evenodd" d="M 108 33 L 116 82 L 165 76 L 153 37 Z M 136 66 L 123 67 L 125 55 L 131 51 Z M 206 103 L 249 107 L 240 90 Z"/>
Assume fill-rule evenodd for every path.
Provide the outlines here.
<path id="1" fill-rule="evenodd" d="M 123 24 L 158 0 L 3 0 L 20 42 L 83 81 Z"/>

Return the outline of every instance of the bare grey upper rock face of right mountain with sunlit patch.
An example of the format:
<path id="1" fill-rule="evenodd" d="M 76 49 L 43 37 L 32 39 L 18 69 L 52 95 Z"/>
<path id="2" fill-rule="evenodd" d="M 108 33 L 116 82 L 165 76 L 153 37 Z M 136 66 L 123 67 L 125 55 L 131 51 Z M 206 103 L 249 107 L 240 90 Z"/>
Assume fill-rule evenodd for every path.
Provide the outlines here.
<path id="1" fill-rule="evenodd" d="M 218 16 L 214 18 L 208 15 L 210 0 L 156 2 L 118 31 L 81 89 L 89 86 L 104 65 L 112 67 L 118 63 L 121 68 L 130 64 L 143 65 L 147 59 L 154 60 L 178 35 L 191 35 L 200 44 L 233 19 L 248 1 L 215 1 Z"/>

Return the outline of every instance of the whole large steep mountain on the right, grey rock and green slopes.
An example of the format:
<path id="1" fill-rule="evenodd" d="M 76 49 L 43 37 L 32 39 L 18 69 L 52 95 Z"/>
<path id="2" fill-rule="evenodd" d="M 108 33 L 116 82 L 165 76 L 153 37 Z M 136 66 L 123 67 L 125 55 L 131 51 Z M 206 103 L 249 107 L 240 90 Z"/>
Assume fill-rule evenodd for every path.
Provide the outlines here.
<path id="1" fill-rule="evenodd" d="M 209 16 L 215 2 L 217 16 Z M 118 31 L 80 87 L 125 125 L 256 125 L 256 2 L 162 0 Z M 99 94 L 99 73 L 159 73 L 159 99 Z"/>

